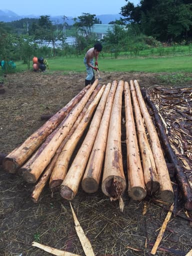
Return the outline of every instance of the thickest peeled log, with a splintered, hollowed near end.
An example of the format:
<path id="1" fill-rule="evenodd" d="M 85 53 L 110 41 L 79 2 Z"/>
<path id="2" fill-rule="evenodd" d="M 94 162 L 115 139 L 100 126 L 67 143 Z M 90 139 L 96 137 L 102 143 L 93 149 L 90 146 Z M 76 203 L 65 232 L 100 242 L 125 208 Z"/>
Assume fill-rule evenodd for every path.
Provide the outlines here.
<path id="1" fill-rule="evenodd" d="M 111 200 L 121 199 L 126 188 L 121 153 L 121 105 L 124 82 L 118 82 L 111 110 L 104 169 L 102 176 L 102 192 Z"/>

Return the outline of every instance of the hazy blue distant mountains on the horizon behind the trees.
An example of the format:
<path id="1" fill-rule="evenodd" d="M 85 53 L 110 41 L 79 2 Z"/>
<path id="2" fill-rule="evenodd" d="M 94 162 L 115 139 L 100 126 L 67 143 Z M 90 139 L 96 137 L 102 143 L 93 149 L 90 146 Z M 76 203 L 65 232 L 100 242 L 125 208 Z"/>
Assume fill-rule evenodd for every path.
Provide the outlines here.
<path id="1" fill-rule="evenodd" d="M 50 15 L 50 20 L 53 21 L 54 23 L 60 24 L 63 23 L 63 16 L 51 16 Z M 102 24 L 108 24 L 110 21 L 115 21 L 116 19 L 119 19 L 122 17 L 120 14 L 102 14 L 102 15 L 96 15 L 97 18 L 102 22 Z M 39 16 L 35 15 L 22 15 L 19 16 L 15 12 L 11 10 L 0 10 L 0 21 L 3 22 L 10 22 L 14 20 L 18 20 L 21 18 L 39 18 Z M 67 17 L 65 22 L 68 23 L 69 25 L 73 24 L 73 17 Z"/>

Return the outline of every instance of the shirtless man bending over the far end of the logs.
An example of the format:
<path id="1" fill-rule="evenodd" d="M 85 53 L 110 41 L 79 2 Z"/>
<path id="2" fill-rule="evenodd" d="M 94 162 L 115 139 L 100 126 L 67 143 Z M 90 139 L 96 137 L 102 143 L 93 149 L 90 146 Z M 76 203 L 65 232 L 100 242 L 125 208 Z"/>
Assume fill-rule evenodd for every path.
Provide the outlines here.
<path id="1" fill-rule="evenodd" d="M 100 43 L 94 44 L 94 47 L 87 50 L 84 56 L 84 64 L 86 66 L 87 76 L 85 78 L 85 86 L 88 84 L 92 84 L 94 82 L 94 70 L 97 70 L 98 67 L 98 54 L 102 50 L 102 45 Z M 95 66 L 93 66 L 93 58 L 95 58 Z M 94 69 L 94 70 L 93 70 Z"/>

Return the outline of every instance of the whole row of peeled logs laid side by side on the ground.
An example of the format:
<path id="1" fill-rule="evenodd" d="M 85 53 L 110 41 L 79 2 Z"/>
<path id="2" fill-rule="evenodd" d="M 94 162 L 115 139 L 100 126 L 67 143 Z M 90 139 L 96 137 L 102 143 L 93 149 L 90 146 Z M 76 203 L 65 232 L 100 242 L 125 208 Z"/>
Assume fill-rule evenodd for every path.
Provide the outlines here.
<path id="1" fill-rule="evenodd" d="M 126 169 L 121 149 L 122 107 Z M 101 85 L 96 79 L 10 152 L 3 168 L 35 183 L 34 202 L 48 182 L 51 191 L 59 189 L 68 200 L 80 185 L 92 193 L 100 182 L 111 200 L 122 201 L 126 187 L 128 195 L 139 201 L 146 194 L 159 194 L 167 202 L 174 196 L 160 140 L 137 80 Z"/>

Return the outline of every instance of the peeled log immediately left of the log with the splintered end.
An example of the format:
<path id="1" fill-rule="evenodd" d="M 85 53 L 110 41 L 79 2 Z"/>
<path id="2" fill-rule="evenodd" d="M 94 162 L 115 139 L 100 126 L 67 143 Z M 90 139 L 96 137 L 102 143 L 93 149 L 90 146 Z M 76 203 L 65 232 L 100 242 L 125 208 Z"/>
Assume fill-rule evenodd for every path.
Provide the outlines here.
<path id="1" fill-rule="evenodd" d="M 98 189 L 106 148 L 110 113 L 116 86 L 117 81 L 113 81 L 106 100 L 103 116 L 100 121 L 100 126 L 94 141 L 94 145 L 92 147 L 84 176 L 81 181 L 82 189 L 87 193 L 93 193 Z"/>

